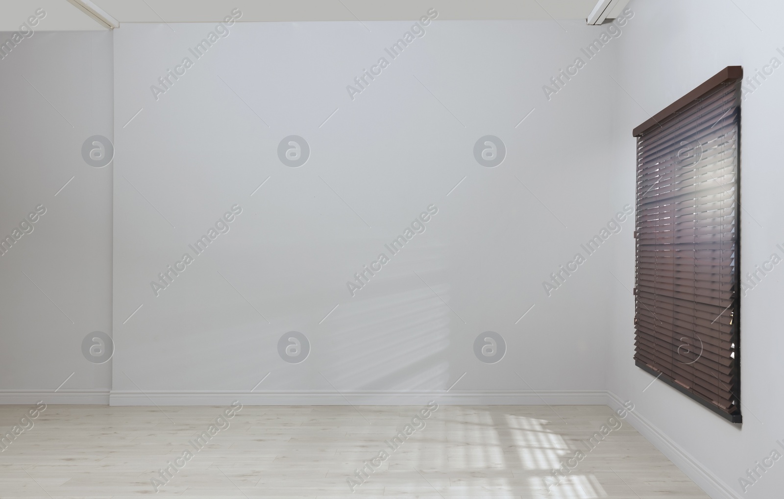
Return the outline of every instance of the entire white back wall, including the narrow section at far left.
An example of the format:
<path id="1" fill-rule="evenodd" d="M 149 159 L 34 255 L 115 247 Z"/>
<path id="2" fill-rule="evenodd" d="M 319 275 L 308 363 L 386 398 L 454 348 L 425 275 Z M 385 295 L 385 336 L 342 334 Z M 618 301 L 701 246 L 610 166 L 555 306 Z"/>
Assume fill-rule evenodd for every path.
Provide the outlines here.
<path id="1" fill-rule="evenodd" d="M 260 402 L 405 402 L 463 373 L 462 402 L 604 401 L 611 253 L 542 288 L 620 208 L 602 158 L 615 48 L 542 91 L 604 28 L 437 22 L 351 101 L 347 84 L 410 23 L 368 26 L 246 24 L 158 101 L 150 86 L 212 25 L 36 32 L 0 61 L 6 232 L 48 210 L 0 257 L 2 402 L 201 403 L 266 373 Z M 298 169 L 276 153 L 291 133 L 312 148 Z M 82 158 L 96 134 L 117 149 L 103 168 Z M 508 149 L 493 169 L 473 155 L 486 134 Z M 151 280 L 235 203 L 231 231 L 154 297 Z M 430 204 L 426 232 L 351 297 L 347 280 Z M 306 362 L 278 355 L 289 330 L 310 338 Z M 475 357 L 486 330 L 505 338 L 502 362 Z M 85 359 L 93 331 L 114 359 Z"/>

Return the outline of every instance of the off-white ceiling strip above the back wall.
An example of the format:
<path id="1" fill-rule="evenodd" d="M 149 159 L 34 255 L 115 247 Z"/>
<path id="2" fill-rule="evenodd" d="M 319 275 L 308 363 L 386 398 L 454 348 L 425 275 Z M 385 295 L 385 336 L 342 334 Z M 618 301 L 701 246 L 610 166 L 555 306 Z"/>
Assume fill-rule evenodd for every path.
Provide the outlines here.
<path id="1" fill-rule="evenodd" d="M 216 22 L 234 8 L 243 22 L 415 20 L 432 8 L 439 20 L 585 20 L 597 0 L 92 0 L 122 23 Z M 625 3 L 625 2 L 623 2 Z M 68 0 L 2 0 L 0 31 L 16 31 L 42 8 L 40 31 L 103 30 Z M 611 16 L 614 17 L 614 16 Z"/>

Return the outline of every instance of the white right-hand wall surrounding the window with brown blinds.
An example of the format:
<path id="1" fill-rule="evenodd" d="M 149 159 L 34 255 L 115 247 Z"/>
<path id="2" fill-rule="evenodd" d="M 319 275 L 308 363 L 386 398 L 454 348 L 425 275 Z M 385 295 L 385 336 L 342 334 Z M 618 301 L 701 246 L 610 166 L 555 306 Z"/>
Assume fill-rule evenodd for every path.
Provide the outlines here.
<path id="1" fill-rule="evenodd" d="M 615 202 L 633 199 L 634 144 L 631 129 L 728 65 L 742 65 L 753 75 L 772 57 L 784 62 L 776 48 L 784 45 L 780 2 L 633 1 L 633 30 L 622 40 L 616 78 L 625 89 L 614 100 Z M 742 10 L 741 10 L 742 9 Z M 755 25 L 756 24 L 756 25 Z M 742 102 L 741 268 L 753 270 L 771 253 L 782 251 L 784 220 L 780 216 L 781 116 L 784 69 L 768 76 Z M 760 79 L 760 82 L 762 80 Z M 630 94 L 629 95 L 626 94 Z M 634 246 L 630 238 L 616 246 L 615 272 L 633 286 Z M 779 266 L 780 267 L 780 266 Z M 779 497 L 784 475 L 781 462 L 744 494 L 739 477 L 762 462 L 784 437 L 784 364 L 781 362 L 784 271 L 776 267 L 742 297 L 743 424 L 717 417 L 680 392 L 656 381 L 633 363 L 633 297 L 615 289 L 612 317 L 612 366 L 608 388 L 631 399 L 642 419 L 634 423 L 691 475 L 712 497 Z"/>

